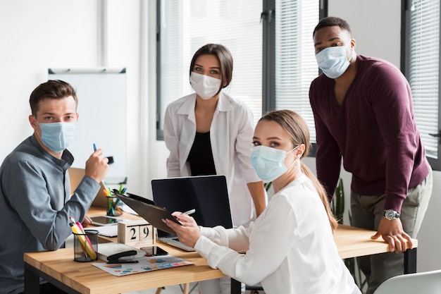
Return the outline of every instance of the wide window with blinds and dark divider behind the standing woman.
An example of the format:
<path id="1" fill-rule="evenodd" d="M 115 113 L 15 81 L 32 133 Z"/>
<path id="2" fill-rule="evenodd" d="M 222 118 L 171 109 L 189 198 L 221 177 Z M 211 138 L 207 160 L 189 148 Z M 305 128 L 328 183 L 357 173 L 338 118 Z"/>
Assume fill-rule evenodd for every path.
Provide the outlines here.
<path id="1" fill-rule="evenodd" d="M 225 90 L 250 107 L 255 123 L 266 111 L 292 109 L 309 123 L 315 142 L 308 92 L 318 75 L 312 32 L 319 2 L 158 0 L 157 139 L 163 140 L 166 106 L 193 92 L 189 67 L 194 52 L 220 43 L 234 59 Z"/>

